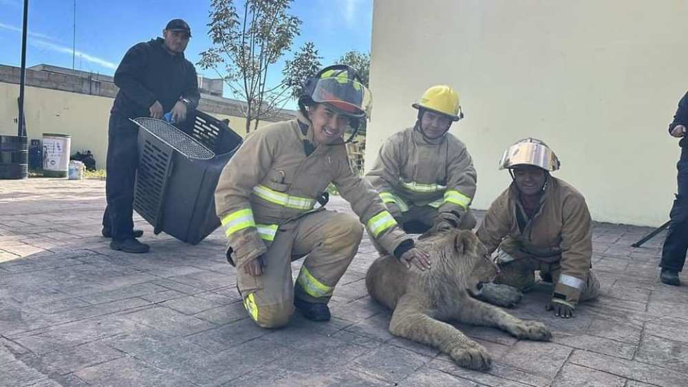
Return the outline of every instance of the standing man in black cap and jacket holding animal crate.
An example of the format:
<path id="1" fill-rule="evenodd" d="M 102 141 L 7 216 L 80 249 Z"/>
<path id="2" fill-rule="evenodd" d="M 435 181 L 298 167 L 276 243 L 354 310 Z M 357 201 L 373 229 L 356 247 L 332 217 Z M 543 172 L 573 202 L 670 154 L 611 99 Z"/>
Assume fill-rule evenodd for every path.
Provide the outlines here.
<path id="1" fill-rule="evenodd" d="M 182 19 L 173 19 L 162 34 L 164 39 L 131 47 L 115 71 L 120 91 L 110 110 L 103 236 L 112 238 L 111 249 L 122 252 L 149 250 L 136 239 L 143 232 L 133 229 L 138 127 L 129 118 L 162 118 L 171 112 L 175 122 L 183 122 L 200 99 L 196 70 L 184 58 L 191 28 Z"/>

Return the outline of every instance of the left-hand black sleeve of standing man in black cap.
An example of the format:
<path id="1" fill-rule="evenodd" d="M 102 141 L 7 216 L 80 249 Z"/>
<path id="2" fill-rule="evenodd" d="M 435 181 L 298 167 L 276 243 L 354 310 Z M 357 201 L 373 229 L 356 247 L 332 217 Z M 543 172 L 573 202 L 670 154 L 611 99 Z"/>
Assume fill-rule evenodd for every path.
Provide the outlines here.
<path id="1" fill-rule="evenodd" d="M 150 107 L 158 99 L 152 91 L 141 85 L 138 79 L 144 74 L 148 62 L 147 47 L 146 43 L 131 47 L 122 58 L 114 76 L 115 85 L 122 93 L 142 107 Z"/>

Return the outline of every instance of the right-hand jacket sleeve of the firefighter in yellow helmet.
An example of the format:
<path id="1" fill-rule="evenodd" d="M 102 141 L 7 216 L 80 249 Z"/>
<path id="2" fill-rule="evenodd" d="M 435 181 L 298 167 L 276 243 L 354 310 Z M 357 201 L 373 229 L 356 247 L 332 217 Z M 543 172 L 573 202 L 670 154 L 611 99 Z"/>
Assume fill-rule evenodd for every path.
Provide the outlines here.
<path id="1" fill-rule="evenodd" d="M 462 150 L 451 157 L 447 165 L 447 190 L 444 191 L 444 202 L 438 209 L 441 218 L 459 221 L 468 210 L 475 196 L 477 173 L 469 151 Z"/>

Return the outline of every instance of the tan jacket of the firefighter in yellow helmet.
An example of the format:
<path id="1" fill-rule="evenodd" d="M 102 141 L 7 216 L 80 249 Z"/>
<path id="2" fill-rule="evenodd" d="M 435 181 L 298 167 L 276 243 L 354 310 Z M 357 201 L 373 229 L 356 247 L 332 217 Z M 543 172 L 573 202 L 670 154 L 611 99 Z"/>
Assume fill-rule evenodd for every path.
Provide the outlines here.
<path id="1" fill-rule="evenodd" d="M 409 206 L 432 206 L 458 224 L 475 195 L 477 174 L 466 146 L 451 133 L 427 140 L 408 128 L 385 141 L 366 178 L 397 219 Z"/>

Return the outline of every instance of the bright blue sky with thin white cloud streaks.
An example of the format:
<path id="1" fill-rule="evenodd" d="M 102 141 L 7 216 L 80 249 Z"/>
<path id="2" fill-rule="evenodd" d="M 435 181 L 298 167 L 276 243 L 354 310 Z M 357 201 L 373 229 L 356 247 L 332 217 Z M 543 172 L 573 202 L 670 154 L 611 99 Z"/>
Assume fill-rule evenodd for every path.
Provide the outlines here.
<path id="1" fill-rule="evenodd" d="M 235 3 L 238 8 L 243 1 Z M 21 63 L 22 7 L 22 0 L 0 0 L 0 64 Z M 72 68 L 73 9 L 74 0 L 29 1 L 27 66 L 46 63 Z M 129 47 L 161 36 L 167 21 L 175 17 L 191 25 L 193 38 L 185 54 L 196 63 L 198 53 L 210 46 L 209 9 L 209 0 L 77 0 L 75 68 L 114 74 Z M 323 64 L 352 49 L 370 49 L 372 0 L 296 0 L 292 14 L 303 21 L 292 49 L 313 41 Z M 215 77 L 214 71 L 197 70 Z M 279 76 L 280 70 L 277 65 L 273 76 Z"/>

